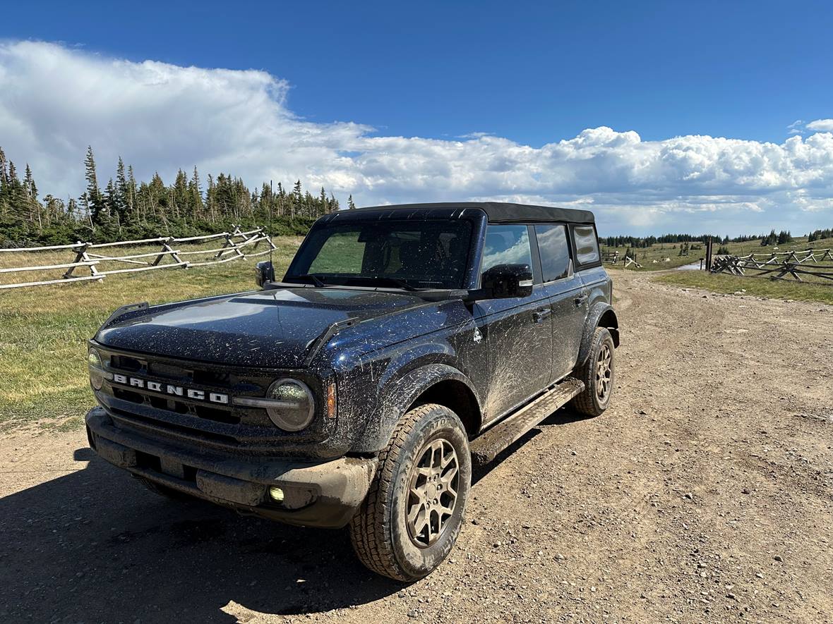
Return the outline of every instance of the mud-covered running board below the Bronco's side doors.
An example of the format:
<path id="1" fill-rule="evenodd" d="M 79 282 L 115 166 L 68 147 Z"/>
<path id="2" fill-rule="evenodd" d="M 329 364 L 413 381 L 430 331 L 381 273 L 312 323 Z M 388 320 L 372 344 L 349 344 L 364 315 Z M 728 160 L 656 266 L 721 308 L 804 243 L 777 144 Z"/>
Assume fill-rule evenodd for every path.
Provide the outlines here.
<path id="1" fill-rule="evenodd" d="M 555 388 L 526 404 L 502 423 L 476 438 L 470 445 L 471 463 L 482 466 L 497 457 L 504 448 L 535 427 L 541 420 L 584 391 L 584 382 L 567 377 Z"/>

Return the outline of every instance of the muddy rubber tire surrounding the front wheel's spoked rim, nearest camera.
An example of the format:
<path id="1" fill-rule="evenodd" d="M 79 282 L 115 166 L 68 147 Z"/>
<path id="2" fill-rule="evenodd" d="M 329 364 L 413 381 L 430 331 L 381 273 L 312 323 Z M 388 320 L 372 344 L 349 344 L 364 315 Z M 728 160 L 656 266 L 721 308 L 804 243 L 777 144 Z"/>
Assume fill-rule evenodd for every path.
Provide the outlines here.
<path id="1" fill-rule="evenodd" d="M 458 466 L 456 503 L 436 542 L 418 547 L 407 524 L 412 468 L 431 442 L 451 444 Z M 373 572 L 397 581 L 426 577 L 451 552 L 460 533 L 471 488 L 471 454 L 460 418 L 450 409 L 425 404 L 407 412 L 394 428 L 391 440 L 379 453 L 379 464 L 356 515 L 350 522 L 350 540 L 359 560 Z"/>

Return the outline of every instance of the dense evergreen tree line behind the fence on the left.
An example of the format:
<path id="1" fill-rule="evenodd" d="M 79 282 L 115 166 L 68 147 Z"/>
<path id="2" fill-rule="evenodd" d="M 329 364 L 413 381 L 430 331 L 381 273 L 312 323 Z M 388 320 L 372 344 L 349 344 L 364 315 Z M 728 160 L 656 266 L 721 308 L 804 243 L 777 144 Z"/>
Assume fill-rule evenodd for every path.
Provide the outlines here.
<path id="1" fill-rule="evenodd" d="M 272 189 L 263 182 L 250 191 L 242 178 L 208 174 L 205 183 L 195 166 L 177 171 L 166 185 L 158 173 L 137 181 L 121 156 L 115 178 L 102 185 L 92 146 L 84 160 L 86 189 L 79 197 L 39 196 L 32 169 L 22 176 L 0 147 L 0 245 L 62 245 L 77 240 L 102 242 L 190 236 L 227 230 L 232 224 L 267 226 L 272 209 L 273 235 L 306 234 L 312 222 L 339 209 L 332 192 L 322 186 L 317 195 L 300 180 L 292 189 L 281 182 Z M 352 196 L 348 207 L 355 208 Z"/>

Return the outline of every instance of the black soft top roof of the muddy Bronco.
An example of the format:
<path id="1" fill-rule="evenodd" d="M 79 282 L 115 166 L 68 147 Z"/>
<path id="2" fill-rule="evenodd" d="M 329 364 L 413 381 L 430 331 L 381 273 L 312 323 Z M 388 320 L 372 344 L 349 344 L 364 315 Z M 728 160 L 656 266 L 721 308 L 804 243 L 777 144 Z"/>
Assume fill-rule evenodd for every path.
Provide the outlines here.
<path id="1" fill-rule="evenodd" d="M 460 201 L 436 202 L 433 204 L 398 204 L 395 206 L 367 206 L 350 210 L 350 213 L 364 213 L 386 210 L 465 210 L 479 208 L 486 212 L 491 223 L 594 223 L 590 210 L 573 210 L 556 206 L 530 206 L 528 204 L 508 204 L 501 201 Z M 335 213 L 338 214 L 338 213 Z"/>

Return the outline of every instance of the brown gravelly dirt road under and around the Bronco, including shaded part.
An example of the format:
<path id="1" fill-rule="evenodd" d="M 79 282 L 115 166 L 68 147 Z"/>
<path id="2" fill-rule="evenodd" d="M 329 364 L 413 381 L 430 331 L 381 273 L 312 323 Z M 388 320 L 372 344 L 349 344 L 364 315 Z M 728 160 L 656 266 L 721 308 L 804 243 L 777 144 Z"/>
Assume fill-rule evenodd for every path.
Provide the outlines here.
<path id="1" fill-rule="evenodd" d="M 84 434 L 8 434 L 2 622 L 833 622 L 833 308 L 616 272 L 613 407 L 476 473 L 410 587 L 344 532 L 168 503 Z"/>

